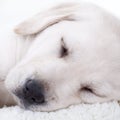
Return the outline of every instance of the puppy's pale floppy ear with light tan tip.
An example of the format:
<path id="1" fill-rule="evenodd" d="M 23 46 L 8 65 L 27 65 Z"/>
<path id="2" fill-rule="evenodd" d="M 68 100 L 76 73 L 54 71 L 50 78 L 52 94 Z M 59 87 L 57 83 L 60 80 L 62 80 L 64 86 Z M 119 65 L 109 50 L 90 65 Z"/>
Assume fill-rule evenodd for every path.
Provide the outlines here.
<path id="1" fill-rule="evenodd" d="M 62 20 L 73 20 L 77 8 L 78 4 L 75 3 L 61 4 L 20 23 L 14 31 L 20 35 L 36 34 Z"/>

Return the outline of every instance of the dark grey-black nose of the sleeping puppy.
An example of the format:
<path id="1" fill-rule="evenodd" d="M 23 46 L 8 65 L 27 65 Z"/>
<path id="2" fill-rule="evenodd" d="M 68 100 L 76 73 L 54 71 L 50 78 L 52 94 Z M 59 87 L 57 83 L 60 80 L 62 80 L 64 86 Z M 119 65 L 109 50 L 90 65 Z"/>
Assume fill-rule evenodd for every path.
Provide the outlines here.
<path id="1" fill-rule="evenodd" d="M 45 102 L 43 86 L 35 80 L 28 80 L 23 87 L 24 101 L 29 104 L 41 104 Z"/>

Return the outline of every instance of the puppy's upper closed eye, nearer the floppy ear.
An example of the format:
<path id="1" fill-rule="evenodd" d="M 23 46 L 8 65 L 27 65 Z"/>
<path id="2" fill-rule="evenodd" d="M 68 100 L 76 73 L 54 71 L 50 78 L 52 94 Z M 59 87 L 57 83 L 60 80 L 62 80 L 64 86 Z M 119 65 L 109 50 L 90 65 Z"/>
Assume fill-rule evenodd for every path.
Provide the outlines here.
<path id="1" fill-rule="evenodd" d="M 68 55 L 68 48 L 64 43 L 64 39 L 61 38 L 61 50 L 60 50 L 60 58 L 66 57 Z"/>

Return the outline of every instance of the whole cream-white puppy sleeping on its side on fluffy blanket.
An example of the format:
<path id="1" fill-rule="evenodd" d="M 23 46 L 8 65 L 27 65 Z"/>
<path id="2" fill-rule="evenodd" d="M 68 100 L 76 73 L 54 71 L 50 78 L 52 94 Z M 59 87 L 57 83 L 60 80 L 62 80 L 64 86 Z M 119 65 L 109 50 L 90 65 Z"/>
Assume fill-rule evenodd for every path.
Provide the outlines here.
<path id="1" fill-rule="evenodd" d="M 101 8 L 61 4 L 0 37 L 1 106 L 53 111 L 120 100 L 120 21 Z"/>

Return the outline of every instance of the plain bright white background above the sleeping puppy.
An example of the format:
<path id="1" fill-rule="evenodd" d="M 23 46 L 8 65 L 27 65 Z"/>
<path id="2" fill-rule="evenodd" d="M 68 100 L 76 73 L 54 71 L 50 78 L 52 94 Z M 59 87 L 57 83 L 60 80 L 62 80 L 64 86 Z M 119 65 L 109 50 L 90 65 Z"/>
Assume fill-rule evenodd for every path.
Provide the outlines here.
<path id="1" fill-rule="evenodd" d="M 20 21 L 60 2 L 81 0 L 0 0 L 0 26 L 15 25 Z M 85 0 L 82 0 L 85 1 Z M 120 0 L 86 0 L 107 9 L 120 18 Z"/>

